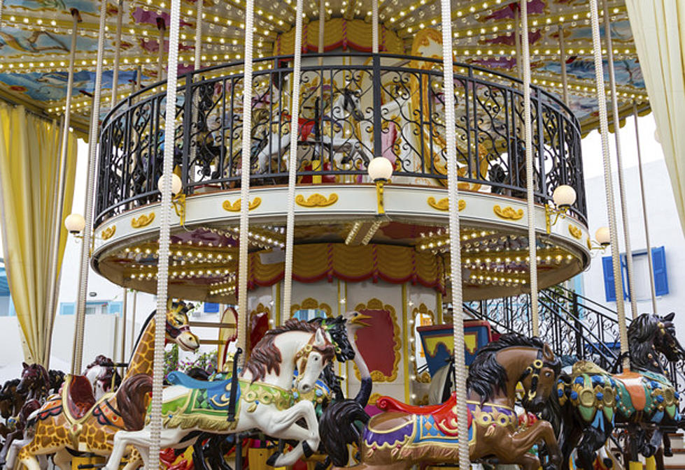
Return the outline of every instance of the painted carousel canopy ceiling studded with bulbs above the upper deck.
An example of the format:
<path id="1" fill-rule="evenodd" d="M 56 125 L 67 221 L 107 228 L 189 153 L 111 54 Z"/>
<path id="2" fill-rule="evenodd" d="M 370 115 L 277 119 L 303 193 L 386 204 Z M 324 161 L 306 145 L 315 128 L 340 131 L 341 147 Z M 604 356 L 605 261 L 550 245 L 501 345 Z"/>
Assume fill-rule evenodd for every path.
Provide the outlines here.
<path id="1" fill-rule="evenodd" d="M 244 1 L 204 0 L 203 66 L 224 64 L 241 58 L 244 47 Z M 646 109 L 649 101 L 626 6 L 623 0 L 607 1 L 621 105 L 624 109 L 628 108 L 635 100 L 640 108 Z M 163 28 L 169 22 L 169 3 L 169 0 L 108 1 L 104 37 L 106 64 L 101 87 L 106 100 L 104 112 L 110 107 L 107 101 L 113 81 L 118 8 L 122 8 L 118 78 L 119 98 L 122 98 L 134 91 L 139 80 L 143 86 L 158 80 L 159 27 Z M 515 76 L 516 3 L 515 0 L 453 0 L 457 59 Z M 50 115 L 62 112 L 73 24 L 70 12 L 76 8 L 82 21 L 78 26 L 76 42 L 72 110 L 76 113 L 76 122 L 79 119 L 86 122 L 94 87 L 99 4 L 99 1 L 93 0 L 5 0 L 0 22 L 0 94 L 10 101 Z M 183 0 L 182 8 L 181 73 L 192 71 L 196 5 L 194 1 Z M 560 34 L 563 34 L 570 108 L 584 123 L 584 131 L 587 131 L 588 126 L 593 126 L 597 114 L 587 0 L 532 0 L 528 8 L 532 80 L 561 96 L 559 50 Z M 327 20 L 342 17 L 348 21 L 369 22 L 369 9 L 370 2 L 367 0 L 329 0 Z M 309 21 L 312 24 L 316 22 L 318 1 L 305 1 L 305 11 Z M 280 38 L 293 28 L 295 0 L 257 0 L 255 12 L 255 55 L 268 57 L 277 50 Z M 409 54 L 416 31 L 428 27 L 439 28 L 439 2 L 384 0 L 381 1 L 380 20 L 383 28 L 392 31 Z M 162 44 L 162 55 L 166 60 L 165 52 L 169 45 L 167 41 Z"/>

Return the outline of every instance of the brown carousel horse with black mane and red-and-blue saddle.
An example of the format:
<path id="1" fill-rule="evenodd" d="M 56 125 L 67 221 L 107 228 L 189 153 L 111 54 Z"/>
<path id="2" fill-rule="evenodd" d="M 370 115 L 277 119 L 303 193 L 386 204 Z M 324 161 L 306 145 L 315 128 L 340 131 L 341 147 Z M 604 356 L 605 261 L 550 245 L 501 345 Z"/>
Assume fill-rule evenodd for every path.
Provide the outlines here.
<path id="1" fill-rule="evenodd" d="M 561 453 L 553 428 L 538 420 L 519 431 L 514 402 L 516 384 L 521 382 L 525 409 L 544 408 L 559 371 L 560 361 L 537 338 L 510 333 L 483 346 L 466 381 L 470 460 L 537 470 L 540 462 L 529 450 L 544 441 L 550 455 L 544 468 L 557 467 Z M 381 397 L 376 406 L 385 411 L 370 420 L 353 400 L 334 403 L 324 412 L 321 441 L 337 467 L 348 460 L 347 442 L 341 436 L 358 437 L 361 462 L 353 469 L 400 470 L 427 462 L 458 462 L 455 395 L 435 406 L 411 406 Z M 353 427 L 355 420 L 367 420 L 362 432 Z"/>

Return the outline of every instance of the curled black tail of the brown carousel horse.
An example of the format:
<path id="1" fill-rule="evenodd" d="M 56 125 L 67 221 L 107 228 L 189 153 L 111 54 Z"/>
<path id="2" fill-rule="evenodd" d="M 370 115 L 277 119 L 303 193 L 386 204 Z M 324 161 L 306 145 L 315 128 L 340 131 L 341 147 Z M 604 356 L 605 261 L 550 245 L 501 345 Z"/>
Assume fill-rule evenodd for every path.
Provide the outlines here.
<path id="1" fill-rule="evenodd" d="M 319 420 L 321 444 L 330 455 L 334 467 L 345 467 L 348 444 L 360 445 L 362 433 L 355 422 L 366 425 L 369 415 L 353 399 L 344 399 L 326 407 Z"/>

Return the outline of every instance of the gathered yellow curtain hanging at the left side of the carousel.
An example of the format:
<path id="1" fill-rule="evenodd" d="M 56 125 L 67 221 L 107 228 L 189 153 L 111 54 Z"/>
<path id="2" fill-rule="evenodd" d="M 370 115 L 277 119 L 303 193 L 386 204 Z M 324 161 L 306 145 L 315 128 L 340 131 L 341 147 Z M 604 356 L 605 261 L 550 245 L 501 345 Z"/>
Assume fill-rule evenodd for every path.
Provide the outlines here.
<path id="1" fill-rule="evenodd" d="M 49 260 L 59 189 L 57 122 L 29 114 L 22 107 L 0 104 L 0 191 L 5 269 L 24 335 L 27 362 L 48 364 L 52 321 L 46 306 L 50 289 Z M 76 137 L 69 136 L 64 216 L 69 214 L 76 172 Z M 62 265 L 66 230 L 59 240 Z"/>

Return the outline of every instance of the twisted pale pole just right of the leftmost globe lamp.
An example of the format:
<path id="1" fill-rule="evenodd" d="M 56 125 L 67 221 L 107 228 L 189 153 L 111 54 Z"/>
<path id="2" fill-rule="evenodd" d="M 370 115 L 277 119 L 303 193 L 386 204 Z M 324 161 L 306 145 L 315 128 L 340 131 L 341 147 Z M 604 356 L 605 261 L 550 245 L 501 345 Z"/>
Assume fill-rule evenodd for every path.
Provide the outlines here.
<path id="1" fill-rule="evenodd" d="M 88 284 L 88 260 L 92 243 L 93 228 L 93 198 L 95 170 L 97 168 L 97 135 L 100 117 L 100 91 L 102 88 L 102 59 L 105 47 L 105 18 L 107 16 L 107 2 L 100 2 L 100 24 L 97 36 L 97 66 L 95 68 L 95 85 L 93 105 L 90 114 L 90 138 L 88 140 L 88 176 L 85 183 L 85 208 L 83 217 L 83 244 L 81 245 L 80 271 L 78 272 L 78 297 L 76 300 L 76 332 L 74 332 L 73 355 L 71 358 L 71 373 L 80 374 L 83 360 L 83 329 L 85 328 L 85 296 Z"/>

